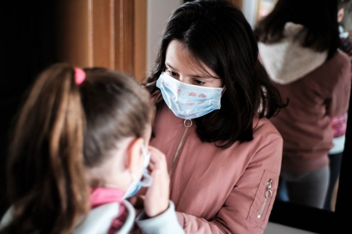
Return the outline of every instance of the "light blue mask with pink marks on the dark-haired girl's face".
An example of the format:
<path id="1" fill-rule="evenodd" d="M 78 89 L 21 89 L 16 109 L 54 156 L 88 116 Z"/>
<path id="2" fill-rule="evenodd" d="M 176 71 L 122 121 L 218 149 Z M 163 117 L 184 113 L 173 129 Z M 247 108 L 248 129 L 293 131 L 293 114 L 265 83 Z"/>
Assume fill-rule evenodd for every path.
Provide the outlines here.
<path id="1" fill-rule="evenodd" d="M 180 118 L 191 119 L 220 109 L 224 88 L 203 87 L 183 83 L 165 72 L 156 81 L 165 103 Z"/>

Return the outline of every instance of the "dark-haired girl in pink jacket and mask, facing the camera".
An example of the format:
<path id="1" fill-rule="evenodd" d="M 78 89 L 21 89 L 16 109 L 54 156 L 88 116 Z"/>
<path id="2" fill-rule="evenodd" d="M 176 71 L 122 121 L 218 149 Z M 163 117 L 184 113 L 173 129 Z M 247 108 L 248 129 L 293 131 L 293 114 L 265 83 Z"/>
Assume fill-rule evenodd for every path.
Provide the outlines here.
<path id="1" fill-rule="evenodd" d="M 263 233 L 283 147 L 268 118 L 284 104 L 241 10 L 226 0 L 176 8 L 145 86 L 157 107 L 151 145 L 166 155 L 185 232 Z"/>

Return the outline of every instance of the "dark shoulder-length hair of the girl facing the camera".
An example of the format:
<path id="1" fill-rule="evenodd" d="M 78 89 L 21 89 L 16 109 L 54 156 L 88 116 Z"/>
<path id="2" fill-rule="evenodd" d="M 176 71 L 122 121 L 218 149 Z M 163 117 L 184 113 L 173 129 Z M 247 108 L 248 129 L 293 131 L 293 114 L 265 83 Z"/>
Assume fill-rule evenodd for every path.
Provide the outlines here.
<path id="1" fill-rule="evenodd" d="M 254 117 L 259 113 L 270 118 L 284 106 L 258 60 L 251 26 L 241 10 L 226 0 L 188 1 L 171 15 L 145 82 L 157 105 L 162 96 L 156 80 L 165 69 L 166 49 L 173 39 L 219 75 L 226 87 L 220 110 L 195 119 L 200 140 L 221 148 L 252 140 Z"/>

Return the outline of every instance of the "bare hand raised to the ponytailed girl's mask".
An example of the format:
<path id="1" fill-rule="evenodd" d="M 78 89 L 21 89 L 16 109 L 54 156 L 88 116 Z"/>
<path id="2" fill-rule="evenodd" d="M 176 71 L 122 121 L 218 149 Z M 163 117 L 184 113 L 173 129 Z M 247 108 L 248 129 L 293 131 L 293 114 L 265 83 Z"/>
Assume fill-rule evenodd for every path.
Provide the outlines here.
<path id="1" fill-rule="evenodd" d="M 165 155 L 152 146 L 149 146 L 148 150 L 151 153 L 149 170 L 153 183 L 145 194 L 144 211 L 149 217 L 154 217 L 169 207 L 170 177 Z"/>

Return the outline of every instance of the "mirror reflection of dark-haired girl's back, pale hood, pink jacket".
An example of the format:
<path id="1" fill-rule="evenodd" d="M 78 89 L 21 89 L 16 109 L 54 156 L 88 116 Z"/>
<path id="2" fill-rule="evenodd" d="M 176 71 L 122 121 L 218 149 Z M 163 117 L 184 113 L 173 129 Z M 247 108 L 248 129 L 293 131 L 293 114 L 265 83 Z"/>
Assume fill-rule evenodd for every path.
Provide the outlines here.
<path id="1" fill-rule="evenodd" d="M 292 202 L 323 208 L 332 117 L 346 113 L 350 60 L 336 0 L 278 0 L 254 29 L 261 61 L 288 106 L 271 118 L 284 139 L 280 178 Z"/>

